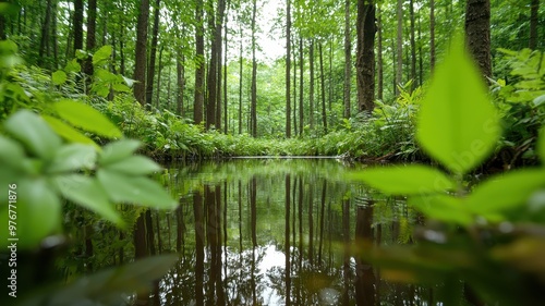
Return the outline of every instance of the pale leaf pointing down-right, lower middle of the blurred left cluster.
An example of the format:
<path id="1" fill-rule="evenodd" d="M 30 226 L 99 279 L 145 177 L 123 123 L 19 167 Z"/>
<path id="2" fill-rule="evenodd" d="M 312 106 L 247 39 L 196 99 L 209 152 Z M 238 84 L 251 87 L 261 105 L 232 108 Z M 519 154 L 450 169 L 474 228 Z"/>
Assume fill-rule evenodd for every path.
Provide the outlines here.
<path id="1" fill-rule="evenodd" d="M 120 216 L 96 179 L 70 174 L 56 178 L 56 183 L 65 198 L 95 211 L 114 224 L 122 225 Z"/>

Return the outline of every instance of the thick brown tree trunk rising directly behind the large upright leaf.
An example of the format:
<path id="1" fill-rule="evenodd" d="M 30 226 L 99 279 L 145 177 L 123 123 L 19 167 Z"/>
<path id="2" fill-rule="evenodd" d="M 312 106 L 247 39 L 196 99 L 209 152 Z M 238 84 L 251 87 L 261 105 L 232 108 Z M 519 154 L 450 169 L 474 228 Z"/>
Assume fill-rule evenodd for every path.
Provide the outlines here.
<path id="1" fill-rule="evenodd" d="M 470 53 L 479 64 L 484 78 L 492 77 L 489 0 L 468 0 L 465 37 Z"/>

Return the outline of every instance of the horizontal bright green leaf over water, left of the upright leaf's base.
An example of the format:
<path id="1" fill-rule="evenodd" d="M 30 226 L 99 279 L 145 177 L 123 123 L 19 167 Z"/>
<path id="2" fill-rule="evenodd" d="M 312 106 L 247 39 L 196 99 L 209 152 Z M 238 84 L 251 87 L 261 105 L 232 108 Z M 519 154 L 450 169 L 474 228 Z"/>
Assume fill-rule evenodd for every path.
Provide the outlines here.
<path id="1" fill-rule="evenodd" d="M 420 164 L 370 168 L 351 176 L 390 195 L 443 193 L 457 187 L 445 173 Z"/>

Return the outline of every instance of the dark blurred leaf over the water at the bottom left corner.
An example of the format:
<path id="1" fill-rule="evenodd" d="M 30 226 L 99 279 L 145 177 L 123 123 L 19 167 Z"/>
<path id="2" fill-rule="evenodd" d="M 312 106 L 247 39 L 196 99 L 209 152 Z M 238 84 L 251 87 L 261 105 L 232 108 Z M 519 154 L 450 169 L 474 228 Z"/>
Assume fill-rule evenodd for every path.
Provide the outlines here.
<path id="1" fill-rule="evenodd" d="M 57 290 L 47 290 L 24 301 L 22 306 L 125 305 L 128 295 L 150 289 L 179 260 L 175 255 L 159 255 L 119 268 L 83 277 Z"/>

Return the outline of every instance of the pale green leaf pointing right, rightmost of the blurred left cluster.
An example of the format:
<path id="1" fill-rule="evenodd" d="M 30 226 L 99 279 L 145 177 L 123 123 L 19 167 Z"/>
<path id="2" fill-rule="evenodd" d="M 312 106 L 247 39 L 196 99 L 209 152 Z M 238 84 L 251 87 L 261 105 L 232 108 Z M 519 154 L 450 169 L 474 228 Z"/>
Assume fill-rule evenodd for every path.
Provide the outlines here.
<path id="1" fill-rule="evenodd" d="M 142 176 L 128 176 L 100 169 L 97 178 L 114 203 L 138 204 L 158 209 L 174 209 L 173 200 L 157 182 Z"/>

